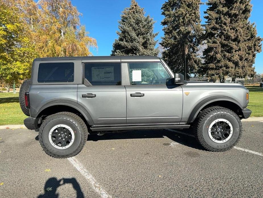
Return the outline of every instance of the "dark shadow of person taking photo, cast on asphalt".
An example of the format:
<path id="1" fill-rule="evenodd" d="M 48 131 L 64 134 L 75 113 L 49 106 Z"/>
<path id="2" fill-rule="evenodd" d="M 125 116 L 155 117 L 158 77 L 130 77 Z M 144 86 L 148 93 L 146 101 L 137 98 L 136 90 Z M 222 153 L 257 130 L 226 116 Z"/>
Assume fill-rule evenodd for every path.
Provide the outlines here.
<path id="1" fill-rule="evenodd" d="M 38 198 L 58 198 L 59 193 L 57 193 L 57 188 L 67 183 L 72 184 L 74 190 L 76 191 L 76 198 L 84 197 L 81 187 L 75 178 L 57 179 L 56 177 L 51 177 L 46 181 L 44 190 L 42 191 L 42 194 L 38 196 Z"/>

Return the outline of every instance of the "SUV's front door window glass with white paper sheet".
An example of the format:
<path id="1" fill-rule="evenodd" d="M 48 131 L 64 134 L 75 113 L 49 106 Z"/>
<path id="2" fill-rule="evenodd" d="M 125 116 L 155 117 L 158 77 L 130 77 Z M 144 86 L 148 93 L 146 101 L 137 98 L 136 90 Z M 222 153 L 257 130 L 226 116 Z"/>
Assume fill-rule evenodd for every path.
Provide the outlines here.
<path id="1" fill-rule="evenodd" d="M 166 84 L 171 76 L 160 62 L 128 63 L 130 82 L 136 84 Z"/>

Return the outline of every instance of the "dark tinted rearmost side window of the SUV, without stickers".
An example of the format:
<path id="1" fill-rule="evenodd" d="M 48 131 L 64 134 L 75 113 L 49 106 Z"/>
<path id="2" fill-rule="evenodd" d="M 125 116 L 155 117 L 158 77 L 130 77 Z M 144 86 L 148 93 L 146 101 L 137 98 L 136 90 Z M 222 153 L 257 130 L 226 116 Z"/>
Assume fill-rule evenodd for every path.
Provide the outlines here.
<path id="1" fill-rule="evenodd" d="M 38 66 L 38 82 L 73 82 L 73 62 L 48 62 Z"/>

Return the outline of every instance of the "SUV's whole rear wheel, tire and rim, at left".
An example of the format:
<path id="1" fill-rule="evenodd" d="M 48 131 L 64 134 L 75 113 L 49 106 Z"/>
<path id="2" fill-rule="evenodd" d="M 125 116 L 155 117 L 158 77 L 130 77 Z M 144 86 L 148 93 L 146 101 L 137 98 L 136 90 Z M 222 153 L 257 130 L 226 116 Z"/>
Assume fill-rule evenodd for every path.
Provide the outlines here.
<path id="1" fill-rule="evenodd" d="M 87 137 L 86 124 L 71 112 L 48 116 L 40 126 L 38 134 L 43 150 L 56 158 L 67 158 L 78 154 L 84 147 Z"/>

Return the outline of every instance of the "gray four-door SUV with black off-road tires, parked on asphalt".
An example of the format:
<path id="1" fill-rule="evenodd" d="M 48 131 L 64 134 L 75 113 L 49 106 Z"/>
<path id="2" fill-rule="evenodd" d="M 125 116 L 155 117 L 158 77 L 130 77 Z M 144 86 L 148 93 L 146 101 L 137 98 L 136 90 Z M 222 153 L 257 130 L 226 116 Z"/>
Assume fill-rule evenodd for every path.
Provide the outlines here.
<path id="1" fill-rule="evenodd" d="M 156 56 L 36 58 L 20 89 L 24 120 L 52 157 L 76 155 L 88 134 L 192 128 L 207 150 L 226 151 L 248 118 L 238 83 L 185 81 Z"/>

